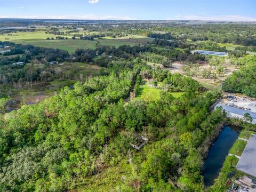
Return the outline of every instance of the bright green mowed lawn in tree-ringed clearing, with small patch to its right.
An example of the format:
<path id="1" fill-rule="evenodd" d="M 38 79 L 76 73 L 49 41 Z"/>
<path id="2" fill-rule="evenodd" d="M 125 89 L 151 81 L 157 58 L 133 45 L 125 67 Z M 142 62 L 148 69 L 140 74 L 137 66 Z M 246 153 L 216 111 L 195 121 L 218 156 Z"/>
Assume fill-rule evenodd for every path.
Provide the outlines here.
<path id="1" fill-rule="evenodd" d="M 146 101 L 152 101 L 152 100 L 158 100 L 160 99 L 160 94 L 161 90 L 155 88 L 155 87 L 150 87 L 148 84 L 141 85 L 139 89 L 139 93 L 136 95 L 135 98 L 141 98 Z M 180 97 L 183 92 L 172 92 L 171 93 L 174 98 Z"/>

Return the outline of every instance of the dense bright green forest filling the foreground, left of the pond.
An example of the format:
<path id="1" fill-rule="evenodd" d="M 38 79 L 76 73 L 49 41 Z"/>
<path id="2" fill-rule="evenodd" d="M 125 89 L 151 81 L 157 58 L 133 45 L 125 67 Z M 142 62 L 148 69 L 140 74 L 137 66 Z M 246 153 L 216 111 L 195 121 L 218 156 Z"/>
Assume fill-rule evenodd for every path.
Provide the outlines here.
<path id="1" fill-rule="evenodd" d="M 2 115 L 0 189 L 73 189 L 132 151 L 127 166 L 136 171 L 121 186 L 126 190 L 203 190 L 202 142 L 225 117 L 221 110 L 208 110 L 220 95 L 202 92 L 189 77 L 154 70 L 138 59 L 113 61 L 109 75 Z M 161 76 L 170 89 L 159 101 L 125 105 L 137 76 L 145 74 Z M 186 94 L 175 99 L 169 92 L 177 90 Z M 140 134 L 150 141 L 138 153 L 129 143 Z"/>

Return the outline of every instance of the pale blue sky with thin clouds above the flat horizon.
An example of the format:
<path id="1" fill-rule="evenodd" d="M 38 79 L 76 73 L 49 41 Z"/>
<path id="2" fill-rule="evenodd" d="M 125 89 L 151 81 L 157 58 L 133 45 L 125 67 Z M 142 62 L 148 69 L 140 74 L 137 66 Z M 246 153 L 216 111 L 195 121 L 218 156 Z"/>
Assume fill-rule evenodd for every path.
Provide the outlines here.
<path id="1" fill-rule="evenodd" d="M 256 21 L 256 0 L 0 0 L 0 18 Z"/>

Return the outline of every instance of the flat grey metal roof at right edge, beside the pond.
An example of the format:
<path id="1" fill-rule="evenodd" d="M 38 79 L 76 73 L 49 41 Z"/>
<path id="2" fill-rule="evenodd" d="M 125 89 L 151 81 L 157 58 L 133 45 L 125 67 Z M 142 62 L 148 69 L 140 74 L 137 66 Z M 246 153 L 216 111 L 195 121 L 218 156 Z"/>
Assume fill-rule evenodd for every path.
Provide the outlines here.
<path id="1" fill-rule="evenodd" d="M 252 134 L 247 145 L 244 148 L 243 154 L 239 159 L 236 169 L 253 175 L 256 177 L 256 135 Z"/>

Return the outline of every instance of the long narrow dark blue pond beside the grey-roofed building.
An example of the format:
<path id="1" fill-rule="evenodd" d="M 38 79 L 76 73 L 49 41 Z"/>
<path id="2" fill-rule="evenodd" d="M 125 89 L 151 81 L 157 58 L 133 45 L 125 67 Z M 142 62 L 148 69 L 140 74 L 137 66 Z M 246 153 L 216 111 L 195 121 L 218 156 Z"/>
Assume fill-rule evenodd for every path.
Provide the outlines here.
<path id="1" fill-rule="evenodd" d="M 214 179 L 218 177 L 228 151 L 233 146 L 238 135 L 238 130 L 234 130 L 228 125 L 223 127 L 204 161 L 203 177 L 205 186 L 213 185 Z"/>

